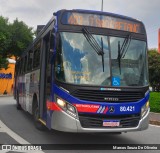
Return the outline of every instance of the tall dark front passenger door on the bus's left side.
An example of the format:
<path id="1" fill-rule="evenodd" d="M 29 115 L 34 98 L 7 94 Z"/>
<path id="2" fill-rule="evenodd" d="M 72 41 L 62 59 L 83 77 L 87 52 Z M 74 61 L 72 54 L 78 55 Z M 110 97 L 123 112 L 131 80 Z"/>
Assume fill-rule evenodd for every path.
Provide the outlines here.
<path id="1" fill-rule="evenodd" d="M 52 39 L 52 40 L 51 40 Z M 40 117 L 44 118 L 44 113 L 47 113 L 46 102 L 51 100 L 51 52 L 50 46 L 51 32 L 43 38 L 43 48 L 41 56 L 41 70 L 40 70 Z"/>

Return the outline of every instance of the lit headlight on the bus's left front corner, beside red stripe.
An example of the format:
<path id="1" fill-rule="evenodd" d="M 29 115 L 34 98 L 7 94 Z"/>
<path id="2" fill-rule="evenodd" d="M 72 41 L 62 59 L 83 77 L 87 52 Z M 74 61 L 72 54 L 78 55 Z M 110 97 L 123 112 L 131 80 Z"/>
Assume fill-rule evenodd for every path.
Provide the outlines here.
<path id="1" fill-rule="evenodd" d="M 67 103 L 65 100 L 57 98 L 57 104 L 59 107 L 61 107 L 66 113 L 69 115 L 76 117 L 76 108 L 72 105 Z"/>

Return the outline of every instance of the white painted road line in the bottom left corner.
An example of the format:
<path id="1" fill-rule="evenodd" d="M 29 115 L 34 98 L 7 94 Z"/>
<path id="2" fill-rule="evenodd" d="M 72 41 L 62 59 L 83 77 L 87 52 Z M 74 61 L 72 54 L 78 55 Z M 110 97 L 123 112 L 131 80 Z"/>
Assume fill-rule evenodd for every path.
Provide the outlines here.
<path id="1" fill-rule="evenodd" d="M 13 132 L 11 129 L 9 129 L 1 120 L 0 120 L 0 132 L 7 133 L 10 137 L 16 140 L 19 144 L 31 145 L 31 143 L 29 143 L 28 141 L 23 139 L 21 136 L 19 136 L 18 134 Z M 12 152 L 22 152 L 22 150 L 16 150 L 16 151 L 13 150 Z M 25 153 L 32 153 L 32 152 L 33 153 L 44 153 L 43 151 L 40 151 L 40 150 L 37 150 L 37 151 L 36 150 L 25 150 L 23 152 Z"/>

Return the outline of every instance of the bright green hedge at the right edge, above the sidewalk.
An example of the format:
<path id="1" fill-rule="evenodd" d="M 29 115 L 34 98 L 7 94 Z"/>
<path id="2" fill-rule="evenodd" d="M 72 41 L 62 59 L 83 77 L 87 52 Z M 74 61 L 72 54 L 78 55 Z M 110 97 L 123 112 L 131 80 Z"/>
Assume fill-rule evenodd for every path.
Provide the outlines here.
<path id="1" fill-rule="evenodd" d="M 160 93 L 151 92 L 149 101 L 150 101 L 151 112 L 160 113 Z"/>

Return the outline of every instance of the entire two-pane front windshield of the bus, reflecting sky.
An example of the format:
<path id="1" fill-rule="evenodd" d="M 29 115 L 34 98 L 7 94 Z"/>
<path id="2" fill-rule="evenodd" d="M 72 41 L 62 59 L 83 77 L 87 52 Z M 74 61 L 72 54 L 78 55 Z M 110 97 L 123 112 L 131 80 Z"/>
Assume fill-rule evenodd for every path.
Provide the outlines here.
<path id="1" fill-rule="evenodd" d="M 60 32 L 55 62 L 57 80 L 96 86 L 148 85 L 145 41 L 130 39 L 119 58 L 119 47 L 125 38 L 92 36 L 98 47 L 103 48 L 103 58 L 83 33 Z"/>

